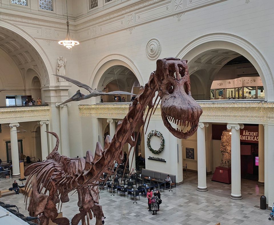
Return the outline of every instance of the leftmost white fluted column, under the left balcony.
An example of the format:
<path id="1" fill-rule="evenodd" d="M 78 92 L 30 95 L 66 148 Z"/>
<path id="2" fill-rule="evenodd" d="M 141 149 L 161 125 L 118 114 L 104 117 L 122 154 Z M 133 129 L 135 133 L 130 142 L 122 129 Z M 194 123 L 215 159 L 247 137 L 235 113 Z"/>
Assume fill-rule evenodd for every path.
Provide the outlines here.
<path id="1" fill-rule="evenodd" d="M 11 161 L 12 161 L 12 177 L 20 176 L 19 169 L 19 152 L 18 152 L 18 141 L 17 141 L 17 127 L 19 123 L 9 124 L 11 130 Z"/>

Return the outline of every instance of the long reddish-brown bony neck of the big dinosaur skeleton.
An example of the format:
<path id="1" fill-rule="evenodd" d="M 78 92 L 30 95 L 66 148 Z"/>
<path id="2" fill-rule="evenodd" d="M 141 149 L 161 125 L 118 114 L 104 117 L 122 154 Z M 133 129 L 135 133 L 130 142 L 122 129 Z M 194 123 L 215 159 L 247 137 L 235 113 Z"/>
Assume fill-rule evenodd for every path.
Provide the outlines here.
<path id="1" fill-rule="evenodd" d="M 119 124 L 111 142 L 105 144 L 102 156 L 94 162 L 94 165 L 89 169 L 88 173 L 85 173 L 86 181 L 98 180 L 100 174 L 109 172 L 109 168 L 112 168 L 114 160 L 118 163 L 122 161 L 124 145 L 126 143 L 131 146 L 134 145 L 131 136 L 134 135 L 134 130 L 137 125 L 144 125 L 144 112 L 147 107 L 148 110 L 153 107 L 152 100 L 158 90 L 154 83 L 153 75 L 154 73 L 151 74 L 149 82 L 140 88 L 139 94 L 132 104 L 130 104 L 128 114 L 122 120 L 122 123 Z"/>

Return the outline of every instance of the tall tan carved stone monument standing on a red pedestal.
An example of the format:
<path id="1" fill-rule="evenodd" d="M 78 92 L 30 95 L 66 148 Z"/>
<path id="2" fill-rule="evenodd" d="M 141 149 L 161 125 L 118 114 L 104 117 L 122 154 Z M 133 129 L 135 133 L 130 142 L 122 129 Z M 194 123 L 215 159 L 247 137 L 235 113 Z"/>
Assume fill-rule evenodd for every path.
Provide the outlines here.
<path id="1" fill-rule="evenodd" d="M 224 130 L 221 136 L 221 153 L 222 161 L 220 166 L 225 168 L 231 167 L 231 134 L 230 131 Z"/>

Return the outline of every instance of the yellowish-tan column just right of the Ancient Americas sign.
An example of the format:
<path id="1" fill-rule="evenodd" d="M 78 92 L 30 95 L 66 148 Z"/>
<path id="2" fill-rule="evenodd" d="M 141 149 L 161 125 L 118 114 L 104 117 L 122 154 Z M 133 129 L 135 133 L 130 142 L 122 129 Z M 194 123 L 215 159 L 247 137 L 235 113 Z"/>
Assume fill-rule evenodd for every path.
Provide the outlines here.
<path id="1" fill-rule="evenodd" d="M 264 127 L 259 124 L 259 180 L 258 185 L 265 184 L 265 152 L 264 152 Z"/>

